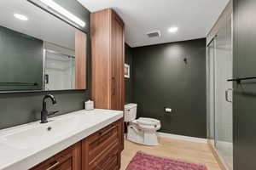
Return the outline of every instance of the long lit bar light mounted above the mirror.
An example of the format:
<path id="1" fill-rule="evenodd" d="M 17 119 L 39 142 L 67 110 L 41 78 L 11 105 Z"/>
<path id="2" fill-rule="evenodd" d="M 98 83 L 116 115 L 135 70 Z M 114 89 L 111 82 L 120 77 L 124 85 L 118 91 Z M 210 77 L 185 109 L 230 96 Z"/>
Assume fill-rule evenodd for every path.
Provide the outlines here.
<path id="1" fill-rule="evenodd" d="M 85 22 L 79 17 L 75 16 L 74 14 L 71 14 L 69 11 L 67 11 L 66 8 L 61 7 L 58 3 L 55 3 L 53 0 L 39 0 L 40 2 L 44 3 L 47 5 L 49 8 L 55 10 L 55 12 L 63 15 L 64 17 L 67 18 L 67 20 L 73 21 L 75 24 L 84 27 Z"/>

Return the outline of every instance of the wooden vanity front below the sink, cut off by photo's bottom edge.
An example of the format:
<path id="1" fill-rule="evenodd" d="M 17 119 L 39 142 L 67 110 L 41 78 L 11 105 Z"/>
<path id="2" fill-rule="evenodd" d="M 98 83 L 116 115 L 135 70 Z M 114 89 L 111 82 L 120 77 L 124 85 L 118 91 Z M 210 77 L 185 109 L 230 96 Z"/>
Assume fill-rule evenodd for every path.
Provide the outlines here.
<path id="1" fill-rule="evenodd" d="M 81 169 L 81 143 L 63 150 L 57 155 L 40 163 L 31 170 L 80 170 Z"/>

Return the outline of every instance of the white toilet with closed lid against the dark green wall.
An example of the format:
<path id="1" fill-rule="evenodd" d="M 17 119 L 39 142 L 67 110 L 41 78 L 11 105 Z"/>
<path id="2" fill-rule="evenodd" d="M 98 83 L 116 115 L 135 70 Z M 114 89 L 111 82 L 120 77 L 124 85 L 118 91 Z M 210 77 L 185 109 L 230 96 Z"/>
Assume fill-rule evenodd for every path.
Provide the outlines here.
<path id="1" fill-rule="evenodd" d="M 160 129 L 160 121 L 137 116 L 137 104 L 125 105 L 125 122 L 128 124 L 127 139 L 138 144 L 158 145 L 156 131 Z"/>

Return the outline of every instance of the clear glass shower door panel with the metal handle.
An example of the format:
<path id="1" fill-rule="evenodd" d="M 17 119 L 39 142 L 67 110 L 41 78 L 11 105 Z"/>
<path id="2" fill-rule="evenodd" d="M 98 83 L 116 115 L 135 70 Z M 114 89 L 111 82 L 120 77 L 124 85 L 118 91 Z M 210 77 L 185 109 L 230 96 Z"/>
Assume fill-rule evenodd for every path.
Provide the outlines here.
<path id="1" fill-rule="evenodd" d="M 233 169 L 233 77 L 231 19 L 222 26 L 215 38 L 215 147 L 219 156 Z"/>

